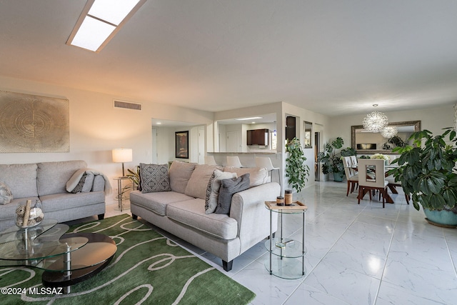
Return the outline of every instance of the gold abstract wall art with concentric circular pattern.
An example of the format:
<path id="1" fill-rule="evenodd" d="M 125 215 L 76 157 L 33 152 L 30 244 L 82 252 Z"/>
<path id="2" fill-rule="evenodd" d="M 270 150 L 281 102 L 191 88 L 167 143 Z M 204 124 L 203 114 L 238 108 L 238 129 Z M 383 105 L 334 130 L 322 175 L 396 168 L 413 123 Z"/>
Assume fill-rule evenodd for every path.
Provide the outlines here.
<path id="1" fill-rule="evenodd" d="M 0 153 L 69 152 L 68 99 L 0 91 Z"/>

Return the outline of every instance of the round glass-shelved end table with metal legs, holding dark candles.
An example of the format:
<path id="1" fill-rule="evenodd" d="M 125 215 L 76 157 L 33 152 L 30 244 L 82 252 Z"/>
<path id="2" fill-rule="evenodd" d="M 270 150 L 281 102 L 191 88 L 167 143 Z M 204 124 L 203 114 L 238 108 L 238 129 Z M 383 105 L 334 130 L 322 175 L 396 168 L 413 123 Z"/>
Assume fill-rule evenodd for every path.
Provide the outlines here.
<path id="1" fill-rule="evenodd" d="M 265 247 L 269 251 L 270 259 L 265 263 L 266 269 L 270 274 L 282 279 L 299 279 L 302 276 L 305 276 L 305 232 L 306 211 L 308 210 L 308 207 L 300 201 L 295 201 L 288 206 L 278 206 L 276 201 L 265 201 L 265 207 L 270 211 L 270 239 L 265 243 Z M 278 213 L 281 219 L 281 236 L 276 236 L 274 239 L 272 232 L 273 212 Z M 283 215 L 287 214 L 302 214 L 303 227 L 301 231 L 301 242 L 294 239 L 283 238 Z"/>

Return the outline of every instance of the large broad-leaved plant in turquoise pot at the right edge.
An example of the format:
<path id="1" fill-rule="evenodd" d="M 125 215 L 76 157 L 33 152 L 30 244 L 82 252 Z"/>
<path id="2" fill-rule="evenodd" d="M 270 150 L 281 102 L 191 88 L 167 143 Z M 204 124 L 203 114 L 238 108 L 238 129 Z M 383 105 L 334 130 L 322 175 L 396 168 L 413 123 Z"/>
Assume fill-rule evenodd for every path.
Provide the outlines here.
<path id="1" fill-rule="evenodd" d="M 416 210 L 421 204 L 428 222 L 457 226 L 456 131 L 445 129 L 437 136 L 428 130 L 417 131 L 409 139 L 413 146 L 393 149 L 401 156 L 392 162 L 398 168 L 388 174 L 401 181 L 405 194 L 412 195 Z"/>

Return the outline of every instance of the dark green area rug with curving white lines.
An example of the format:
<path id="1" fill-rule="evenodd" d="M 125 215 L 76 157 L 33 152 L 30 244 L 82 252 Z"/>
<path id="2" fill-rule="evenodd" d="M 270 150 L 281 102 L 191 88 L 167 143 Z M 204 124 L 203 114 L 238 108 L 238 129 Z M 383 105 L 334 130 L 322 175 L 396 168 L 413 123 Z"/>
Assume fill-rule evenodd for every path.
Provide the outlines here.
<path id="1" fill-rule="evenodd" d="M 117 244 L 109 266 L 64 295 L 0 296 L 0 304 L 248 304 L 256 296 L 221 271 L 123 214 L 71 226 L 68 233 L 96 232 Z M 0 267 L 0 287 L 41 286 L 41 269 Z"/>

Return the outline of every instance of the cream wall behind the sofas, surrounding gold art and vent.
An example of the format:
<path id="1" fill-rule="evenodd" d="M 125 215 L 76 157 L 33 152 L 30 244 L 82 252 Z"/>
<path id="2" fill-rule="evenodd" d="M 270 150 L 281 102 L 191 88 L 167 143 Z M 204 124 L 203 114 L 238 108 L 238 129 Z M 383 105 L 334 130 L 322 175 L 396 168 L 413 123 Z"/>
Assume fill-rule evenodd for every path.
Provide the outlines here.
<path id="1" fill-rule="evenodd" d="M 132 100 L 126 96 L 111 96 L 1 76 L 0 84 L 0 89 L 4 91 L 52 96 L 70 101 L 69 153 L 0 154 L 0 164 L 81 159 L 86 161 L 90 168 L 103 171 L 107 176 L 114 178 L 121 175 L 121 164 L 114 164 L 111 161 L 111 149 L 133 149 L 134 159 L 125 164 L 126 168 L 134 168 L 140 162 L 151 162 L 152 117 L 193 122 L 211 128 L 214 121 L 214 114 L 208 111 Z M 143 110 L 114 109 L 113 99 L 140 103 Z M 171 141 L 174 150 L 174 134 Z"/>

